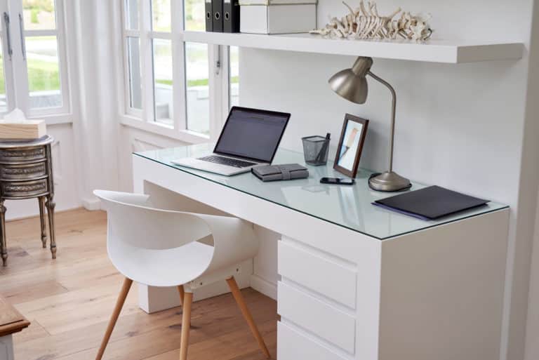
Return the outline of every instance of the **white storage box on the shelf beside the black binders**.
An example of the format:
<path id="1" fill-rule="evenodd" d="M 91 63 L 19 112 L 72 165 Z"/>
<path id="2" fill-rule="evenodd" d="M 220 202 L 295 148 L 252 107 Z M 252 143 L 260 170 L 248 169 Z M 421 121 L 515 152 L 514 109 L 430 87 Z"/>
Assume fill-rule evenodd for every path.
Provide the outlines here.
<path id="1" fill-rule="evenodd" d="M 294 34 L 309 32 L 317 27 L 315 0 L 246 0 L 240 2 L 239 31 L 250 34 Z M 269 5 L 253 4 L 262 1 Z"/>

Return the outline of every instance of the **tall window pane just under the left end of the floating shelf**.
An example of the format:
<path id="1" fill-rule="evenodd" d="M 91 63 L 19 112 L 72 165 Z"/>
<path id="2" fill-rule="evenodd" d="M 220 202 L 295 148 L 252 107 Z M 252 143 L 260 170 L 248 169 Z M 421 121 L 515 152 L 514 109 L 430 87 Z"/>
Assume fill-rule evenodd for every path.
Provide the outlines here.
<path id="1" fill-rule="evenodd" d="M 185 43 L 187 129 L 209 135 L 208 44 Z"/>

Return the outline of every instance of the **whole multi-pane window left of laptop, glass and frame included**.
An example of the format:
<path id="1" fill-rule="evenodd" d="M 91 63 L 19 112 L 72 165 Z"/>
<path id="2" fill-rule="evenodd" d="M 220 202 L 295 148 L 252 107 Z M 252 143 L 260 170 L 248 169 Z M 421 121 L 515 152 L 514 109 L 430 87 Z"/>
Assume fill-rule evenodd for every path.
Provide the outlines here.
<path id="1" fill-rule="evenodd" d="M 205 30 L 204 0 L 123 1 L 126 114 L 175 133 L 211 135 L 211 119 L 222 113 L 215 99 L 228 91 L 220 85 L 228 82 L 222 49 L 182 36 Z"/>

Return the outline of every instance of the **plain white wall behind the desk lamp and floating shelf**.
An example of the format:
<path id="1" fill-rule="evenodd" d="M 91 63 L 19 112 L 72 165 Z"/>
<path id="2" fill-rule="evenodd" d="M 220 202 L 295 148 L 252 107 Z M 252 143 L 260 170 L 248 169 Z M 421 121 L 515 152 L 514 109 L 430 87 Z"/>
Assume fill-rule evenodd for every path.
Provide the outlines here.
<path id="1" fill-rule="evenodd" d="M 533 1 L 379 3 L 382 13 L 397 6 L 432 13 L 438 39 L 507 39 L 526 44 L 524 58 L 518 61 L 440 65 L 375 59 L 372 69 L 397 90 L 394 168 L 401 175 L 512 207 L 503 349 L 507 348 L 509 360 L 524 359 L 536 206 L 535 196 L 527 194 L 537 193 L 537 171 L 528 156 L 533 154 L 529 138 L 537 133 L 533 133 L 535 128 L 526 128 L 528 138 L 524 138 L 524 128 L 539 114 L 531 105 L 526 112 L 526 100 L 533 102 L 527 98 Z M 329 14 L 344 12 L 340 1 L 320 0 L 319 24 Z M 536 14 L 535 18 L 539 20 Z M 353 62 L 352 57 L 242 49 L 241 105 L 291 112 L 282 145 L 292 149 L 301 148 L 302 136 L 327 131 L 335 145 L 345 112 L 370 119 L 361 166 L 385 170 L 390 124 L 387 89 L 370 81 L 367 103 L 354 105 L 328 88 L 328 78 Z M 530 197 L 532 201 L 528 201 Z M 519 213 L 524 215 L 519 217 Z M 513 267 L 515 263 L 517 267 Z"/>

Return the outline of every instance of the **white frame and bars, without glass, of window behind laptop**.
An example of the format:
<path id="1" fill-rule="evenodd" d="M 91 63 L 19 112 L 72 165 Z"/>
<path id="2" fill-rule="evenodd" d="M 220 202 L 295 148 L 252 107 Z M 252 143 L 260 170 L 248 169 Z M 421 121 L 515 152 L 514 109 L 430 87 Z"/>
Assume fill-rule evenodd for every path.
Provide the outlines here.
<path id="1" fill-rule="evenodd" d="M 185 79 L 185 41 L 184 6 L 183 0 L 171 0 L 171 32 L 152 32 L 150 24 L 150 0 L 139 0 L 139 29 L 130 30 L 126 26 L 126 1 L 121 0 L 119 9 L 119 24 L 121 24 L 121 61 L 117 62 L 122 100 L 119 107 L 121 124 L 138 128 L 143 131 L 157 133 L 168 138 L 198 143 L 216 140 L 229 111 L 228 86 L 228 46 L 208 44 L 209 64 L 209 113 L 210 135 L 204 135 L 187 129 L 187 99 Z M 127 37 L 135 36 L 140 39 L 141 76 L 142 76 L 142 110 L 130 106 L 129 69 Z M 173 56 L 173 126 L 166 126 L 154 121 L 154 84 L 152 68 L 152 40 L 170 39 L 172 41 Z"/>

